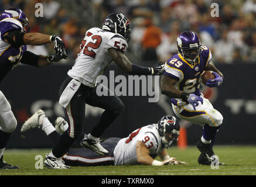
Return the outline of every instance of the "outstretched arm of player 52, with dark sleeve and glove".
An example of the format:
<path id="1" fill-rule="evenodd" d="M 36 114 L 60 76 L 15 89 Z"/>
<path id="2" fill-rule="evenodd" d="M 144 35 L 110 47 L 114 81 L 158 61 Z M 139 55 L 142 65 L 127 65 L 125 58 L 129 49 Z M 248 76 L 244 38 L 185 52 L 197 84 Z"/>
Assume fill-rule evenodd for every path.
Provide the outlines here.
<path id="1" fill-rule="evenodd" d="M 142 67 L 139 65 L 132 64 L 127 56 L 122 51 L 116 50 L 114 48 L 108 49 L 112 60 L 121 70 L 127 74 L 132 75 L 161 75 L 163 74 L 164 65 L 159 63 L 154 67 Z"/>

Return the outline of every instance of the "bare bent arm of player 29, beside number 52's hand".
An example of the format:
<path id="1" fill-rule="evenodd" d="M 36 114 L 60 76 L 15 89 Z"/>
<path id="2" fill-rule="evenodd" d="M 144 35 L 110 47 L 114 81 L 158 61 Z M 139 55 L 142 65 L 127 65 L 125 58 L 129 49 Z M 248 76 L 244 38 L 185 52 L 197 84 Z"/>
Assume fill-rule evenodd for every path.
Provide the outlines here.
<path id="1" fill-rule="evenodd" d="M 163 75 L 160 81 L 161 93 L 169 96 L 170 98 L 181 98 L 182 91 L 175 88 L 177 80 L 175 78 Z"/>

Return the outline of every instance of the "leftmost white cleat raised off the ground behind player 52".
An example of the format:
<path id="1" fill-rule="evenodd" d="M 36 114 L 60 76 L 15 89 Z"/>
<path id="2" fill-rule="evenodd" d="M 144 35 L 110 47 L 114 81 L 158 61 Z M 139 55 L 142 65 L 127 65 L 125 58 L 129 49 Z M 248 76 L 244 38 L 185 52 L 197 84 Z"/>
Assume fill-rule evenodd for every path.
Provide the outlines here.
<path id="1" fill-rule="evenodd" d="M 43 117 L 45 117 L 45 112 L 41 109 L 37 110 L 24 124 L 22 124 L 21 132 L 24 133 L 25 131 L 36 127 L 40 129 L 43 124 Z"/>

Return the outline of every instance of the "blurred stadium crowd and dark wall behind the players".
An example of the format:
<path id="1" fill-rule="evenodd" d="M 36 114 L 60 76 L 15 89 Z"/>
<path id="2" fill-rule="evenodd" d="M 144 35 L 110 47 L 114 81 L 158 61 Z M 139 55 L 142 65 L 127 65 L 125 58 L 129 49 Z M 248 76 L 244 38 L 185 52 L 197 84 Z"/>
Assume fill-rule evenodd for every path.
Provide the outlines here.
<path id="1" fill-rule="evenodd" d="M 35 4 L 43 4 L 43 18 L 35 17 Z M 219 5 L 219 17 L 211 17 L 212 3 Z M 214 108 L 224 116 L 216 144 L 256 144 L 256 1 L 255 0 L 1 0 L 0 11 L 18 6 L 29 19 L 31 32 L 56 34 L 66 43 L 69 58 L 50 67 L 37 69 L 19 65 L 2 81 L 0 89 L 12 105 L 18 120 L 8 148 L 50 148 L 52 144 L 39 130 L 21 134 L 21 124 L 37 109 L 45 110 L 54 122 L 63 116 L 58 104 L 59 86 L 76 58 L 87 29 L 101 27 L 109 13 L 122 12 L 132 24 L 126 52 L 132 63 L 153 65 L 166 61 L 176 50 L 176 38 L 184 30 L 194 30 L 210 47 L 212 60 L 224 73 L 226 84 L 219 89 L 204 89 Z M 53 45 L 29 46 L 36 54 L 52 54 Z M 116 65 L 115 75 L 122 74 Z M 105 72 L 108 75 L 108 71 Z M 171 114 L 170 101 L 160 94 L 158 103 L 146 96 L 121 96 L 125 112 L 107 129 L 104 136 L 126 137 L 132 130 L 157 122 Z M 86 108 L 84 131 L 97 122 L 101 109 Z M 187 144 L 195 145 L 202 127 L 181 122 Z"/>

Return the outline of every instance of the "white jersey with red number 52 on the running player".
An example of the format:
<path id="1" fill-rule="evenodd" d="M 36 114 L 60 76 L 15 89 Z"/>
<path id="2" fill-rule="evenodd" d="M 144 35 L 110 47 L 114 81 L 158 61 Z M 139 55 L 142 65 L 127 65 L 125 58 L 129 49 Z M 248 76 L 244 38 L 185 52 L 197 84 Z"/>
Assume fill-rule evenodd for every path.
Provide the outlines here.
<path id="1" fill-rule="evenodd" d="M 125 51 L 128 44 L 121 34 L 107 32 L 97 27 L 87 30 L 76 63 L 67 74 L 86 86 L 95 87 L 97 77 L 103 74 L 112 61 L 108 53 L 110 48 Z"/>

